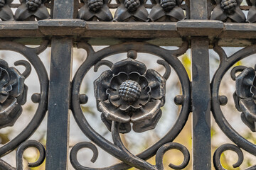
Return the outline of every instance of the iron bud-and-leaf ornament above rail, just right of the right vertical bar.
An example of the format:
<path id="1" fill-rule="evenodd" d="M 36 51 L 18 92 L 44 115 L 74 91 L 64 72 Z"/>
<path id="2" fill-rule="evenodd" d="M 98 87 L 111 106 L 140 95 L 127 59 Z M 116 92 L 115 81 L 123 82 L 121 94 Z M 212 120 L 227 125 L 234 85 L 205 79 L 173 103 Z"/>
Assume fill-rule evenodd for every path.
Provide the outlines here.
<path id="1" fill-rule="evenodd" d="M 242 0 L 215 0 L 217 6 L 210 16 L 211 20 L 244 23 L 245 14 L 239 8 Z"/>

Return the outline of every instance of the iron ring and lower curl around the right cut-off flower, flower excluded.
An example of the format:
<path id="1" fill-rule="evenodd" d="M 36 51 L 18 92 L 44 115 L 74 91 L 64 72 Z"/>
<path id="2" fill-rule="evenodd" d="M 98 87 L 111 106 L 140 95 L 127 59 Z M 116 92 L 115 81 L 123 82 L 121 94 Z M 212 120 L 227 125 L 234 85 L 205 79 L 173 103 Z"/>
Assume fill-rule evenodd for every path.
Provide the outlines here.
<path id="1" fill-rule="evenodd" d="M 253 144 L 252 142 L 249 142 L 241 135 L 239 135 L 238 132 L 232 128 L 230 123 L 228 123 L 228 120 L 226 120 L 220 108 L 221 105 L 225 105 L 226 98 L 224 96 L 219 96 L 220 83 L 225 73 L 228 72 L 228 69 L 233 67 L 233 65 L 236 62 L 242 60 L 245 57 L 255 54 L 256 53 L 255 47 L 256 47 L 255 45 L 250 45 L 248 47 L 243 48 L 242 50 L 239 50 L 238 52 L 235 52 L 235 54 L 231 55 L 230 57 L 228 57 L 225 54 L 225 51 L 223 50 L 223 48 L 219 47 L 218 45 L 215 45 L 214 47 L 215 52 L 217 52 L 220 57 L 220 65 L 211 81 L 211 91 L 212 91 L 211 111 L 213 113 L 213 117 L 215 118 L 215 121 L 218 124 L 219 128 L 225 133 L 225 135 L 230 140 L 232 140 L 235 143 L 235 145 L 237 145 L 237 146 L 223 145 L 216 150 L 215 158 L 213 159 L 216 169 L 223 169 L 222 166 L 220 167 L 219 157 L 220 157 L 220 154 L 226 150 L 233 150 L 240 157 L 238 163 L 233 165 L 234 167 L 238 167 L 240 166 L 240 164 L 242 164 L 243 158 L 240 156 L 242 153 L 240 152 L 240 148 L 256 156 L 256 145 Z M 234 78 L 235 77 L 233 77 L 233 79 Z"/>

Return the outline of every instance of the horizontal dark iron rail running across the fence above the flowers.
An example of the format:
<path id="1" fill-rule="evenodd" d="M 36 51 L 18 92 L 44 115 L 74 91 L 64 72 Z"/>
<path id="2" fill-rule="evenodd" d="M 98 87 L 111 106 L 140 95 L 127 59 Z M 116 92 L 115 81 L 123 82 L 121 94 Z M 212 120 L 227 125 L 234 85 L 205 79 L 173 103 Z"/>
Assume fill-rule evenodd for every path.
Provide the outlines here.
<path id="1" fill-rule="evenodd" d="M 80 19 L 0 22 L 0 37 L 37 45 L 53 35 L 87 38 L 92 45 L 114 45 L 129 38 L 155 45 L 181 45 L 182 38 L 208 36 L 210 44 L 242 47 L 256 40 L 256 23 L 223 23 L 209 20 L 185 20 L 177 23 L 86 22 Z M 33 40 L 31 40 L 33 39 Z"/>

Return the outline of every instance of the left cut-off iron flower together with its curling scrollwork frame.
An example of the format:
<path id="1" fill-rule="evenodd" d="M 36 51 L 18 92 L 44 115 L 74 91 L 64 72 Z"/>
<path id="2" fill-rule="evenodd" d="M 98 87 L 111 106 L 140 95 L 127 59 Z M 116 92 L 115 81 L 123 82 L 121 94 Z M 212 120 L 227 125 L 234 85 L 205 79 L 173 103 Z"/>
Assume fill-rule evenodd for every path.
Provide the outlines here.
<path id="1" fill-rule="evenodd" d="M 0 157 L 4 157 L 4 155 L 18 147 L 16 151 L 16 168 L 4 162 L 3 159 L 0 159 L 0 169 L 23 169 L 22 154 L 28 147 L 36 147 L 40 153 L 38 160 L 34 163 L 29 163 L 28 166 L 39 166 L 46 157 L 44 146 L 40 142 L 28 140 L 28 138 L 33 135 L 33 132 L 41 124 L 47 111 L 48 75 L 43 63 L 38 57 L 47 46 L 48 41 L 43 42 L 41 46 L 36 48 L 26 47 L 16 42 L 0 42 L 0 50 L 18 52 L 28 60 L 28 62 L 20 60 L 14 63 L 15 65 L 26 67 L 23 73 L 18 72 L 14 67 L 9 67 L 4 60 L 0 60 L 0 128 L 14 125 L 22 113 L 21 106 L 26 103 L 28 91 L 28 87 L 24 84 L 24 81 L 31 73 L 31 64 L 36 69 L 41 87 L 40 94 L 33 94 L 32 96 L 32 101 L 38 103 L 38 108 L 31 122 L 13 140 L 0 147 Z"/>

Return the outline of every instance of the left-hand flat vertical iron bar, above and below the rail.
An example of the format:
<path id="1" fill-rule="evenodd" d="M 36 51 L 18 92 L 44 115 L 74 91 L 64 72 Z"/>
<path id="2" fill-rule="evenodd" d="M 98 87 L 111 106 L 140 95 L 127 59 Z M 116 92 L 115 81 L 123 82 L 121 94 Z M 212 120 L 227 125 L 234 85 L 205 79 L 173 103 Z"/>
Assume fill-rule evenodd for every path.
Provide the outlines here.
<path id="1" fill-rule="evenodd" d="M 55 0 L 53 18 L 73 18 L 73 6 L 74 0 Z M 53 36 L 48 97 L 46 170 L 68 170 L 72 62 L 72 38 Z"/>

